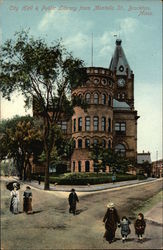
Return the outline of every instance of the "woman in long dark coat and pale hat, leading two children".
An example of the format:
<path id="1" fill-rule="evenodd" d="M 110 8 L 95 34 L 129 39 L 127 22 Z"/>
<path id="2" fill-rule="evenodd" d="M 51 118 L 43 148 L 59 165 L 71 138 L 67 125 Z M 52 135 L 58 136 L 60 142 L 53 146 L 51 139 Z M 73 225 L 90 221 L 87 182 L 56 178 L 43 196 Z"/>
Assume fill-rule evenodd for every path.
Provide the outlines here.
<path id="1" fill-rule="evenodd" d="M 120 225 L 119 215 L 114 206 L 114 203 L 110 202 L 107 204 L 107 211 L 103 218 L 103 222 L 105 223 L 105 234 L 104 238 L 106 238 L 109 243 L 112 243 L 115 240 L 115 231 L 117 229 L 117 224 Z"/>

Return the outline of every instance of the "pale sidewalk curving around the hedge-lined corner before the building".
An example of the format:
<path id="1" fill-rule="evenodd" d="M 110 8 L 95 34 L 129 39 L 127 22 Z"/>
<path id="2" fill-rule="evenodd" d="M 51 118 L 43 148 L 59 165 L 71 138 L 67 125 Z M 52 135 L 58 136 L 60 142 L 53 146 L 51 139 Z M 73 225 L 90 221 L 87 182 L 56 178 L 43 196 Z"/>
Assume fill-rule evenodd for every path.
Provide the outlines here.
<path id="1" fill-rule="evenodd" d="M 155 179 L 155 178 L 148 178 L 146 180 L 132 180 L 132 181 L 121 181 L 116 183 L 105 183 L 105 184 L 97 184 L 97 185 L 90 185 L 90 186 L 77 186 L 77 185 L 54 185 L 50 184 L 50 190 L 51 191 L 62 191 L 62 192 L 70 192 L 72 188 L 74 188 L 77 192 L 95 192 L 95 191 L 102 191 L 102 190 L 108 190 L 113 188 L 119 188 L 119 187 L 125 187 L 125 186 L 132 186 L 132 185 L 139 185 L 143 183 L 148 182 L 154 182 L 157 180 L 162 179 Z M 37 181 L 32 182 L 24 182 L 25 184 L 28 184 L 30 186 L 33 186 L 35 188 L 44 190 L 44 182 L 41 182 L 39 185 Z"/>

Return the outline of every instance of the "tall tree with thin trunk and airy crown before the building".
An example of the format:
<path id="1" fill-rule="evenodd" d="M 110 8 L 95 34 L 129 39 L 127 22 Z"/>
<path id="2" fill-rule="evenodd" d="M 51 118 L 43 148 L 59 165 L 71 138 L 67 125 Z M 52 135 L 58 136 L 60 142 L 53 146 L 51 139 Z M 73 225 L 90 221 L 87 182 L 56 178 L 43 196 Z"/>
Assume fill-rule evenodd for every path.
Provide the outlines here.
<path id="1" fill-rule="evenodd" d="M 56 42 L 48 46 L 43 39 L 29 37 L 28 32 L 15 34 L 1 46 L 0 90 L 10 100 L 11 93 L 20 91 L 29 106 L 42 117 L 43 141 L 46 154 L 45 187 L 49 189 L 49 164 L 55 129 L 61 114 L 72 114 L 75 99 L 72 88 L 86 82 L 83 61 L 74 58 Z"/>

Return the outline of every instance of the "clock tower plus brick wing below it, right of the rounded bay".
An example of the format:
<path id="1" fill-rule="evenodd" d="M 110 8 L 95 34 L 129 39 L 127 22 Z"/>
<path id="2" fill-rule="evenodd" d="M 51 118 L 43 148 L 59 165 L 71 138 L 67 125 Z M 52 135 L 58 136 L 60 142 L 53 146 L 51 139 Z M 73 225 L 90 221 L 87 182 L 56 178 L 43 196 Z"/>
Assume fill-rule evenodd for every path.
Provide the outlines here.
<path id="1" fill-rule="evenodd" d="M 109 70 L 113 74 L 113 149 L 122 156 L 137 157 L 137 111 L 134 108 L 134 74 L 122 48 L 116 40 Z"/>

